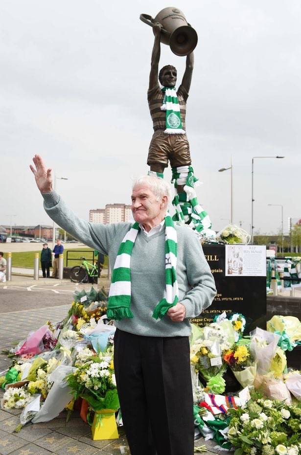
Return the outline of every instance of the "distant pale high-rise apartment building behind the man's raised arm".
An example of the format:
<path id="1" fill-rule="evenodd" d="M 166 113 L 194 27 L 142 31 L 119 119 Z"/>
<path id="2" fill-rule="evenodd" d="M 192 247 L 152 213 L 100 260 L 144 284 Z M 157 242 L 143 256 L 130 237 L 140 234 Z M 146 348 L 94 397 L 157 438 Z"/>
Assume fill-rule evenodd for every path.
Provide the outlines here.
<path id="1" fill-rule="evenodd" d="M 131 205 L 107 204 L 105 208 L 89 210 L 89 221 L 92 223 L 124 223 L 131 219 Z"/>

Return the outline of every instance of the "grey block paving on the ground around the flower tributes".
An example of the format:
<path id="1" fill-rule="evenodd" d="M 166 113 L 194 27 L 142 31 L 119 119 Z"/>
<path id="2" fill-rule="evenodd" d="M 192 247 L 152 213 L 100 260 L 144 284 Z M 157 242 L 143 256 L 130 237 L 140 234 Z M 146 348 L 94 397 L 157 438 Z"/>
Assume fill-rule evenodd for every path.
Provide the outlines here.
<path id="1" fill-rule="evenodd" d="M 50 319 L 52 322 L 62 320 L 69 305 L 39 310 L 25 310 L 2 314 L 0 318 L 0 351 L 10 348 L 12 343 L 23 340 L 29 331 L 39 328 Z M 0 353 L 0 375 L 11 364 L 11 359 Z M 3 391 L 0 391 L 0 398 Z M 135 403 L 133 403 L 135 406 Z M 18 415 L 21 410 L 9 411 L 0 409 L 0 455 L 130 455 L 128 444 L 122 428 L 118 429 L 119 438 L 114 440 L 93 441 L 89 425 L 74 411 L 66 423 L 66 412 L 55 419 L 38 424 L 27 424 L 19 433 L 14 429 L 20 423 Z M 196 445 L 205 441 L 200 439 Z M 208 455 L 216 454 L 216 443 L 206 441 Z M 143 455 L 143 454 L 141 454 Z"/>

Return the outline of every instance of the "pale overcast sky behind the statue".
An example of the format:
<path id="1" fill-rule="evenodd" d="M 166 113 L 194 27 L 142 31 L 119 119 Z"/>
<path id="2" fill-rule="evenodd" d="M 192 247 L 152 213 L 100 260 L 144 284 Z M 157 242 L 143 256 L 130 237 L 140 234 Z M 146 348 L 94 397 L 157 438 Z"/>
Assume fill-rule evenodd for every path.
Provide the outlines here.
<path id="1" fill-rule="evenodd" d="M 129 203 L 131 182 L 147 172 L 152 122 L 146 91 L 153 33 L 139 21 L 162 1 L 2 0 L 0 3 L 0 224 L 50 224 L 29 163 L 41 154 L 57 190 L 88 219 L 90 208 Z M 230 218 L 277 232 L 280 207 L 301 218 L 300 0 L 185 0 L 199 37 L 187 102 L 200 204 L 213 228 Z M 181 79 L 185 57 L 162 45 L 161 66 Z M 180 82 L 180 81 L 179 81 Z M 179 84 L 178 84 L 179 85 Z M 170 180 L 170 170 L 165 178 Z"/>

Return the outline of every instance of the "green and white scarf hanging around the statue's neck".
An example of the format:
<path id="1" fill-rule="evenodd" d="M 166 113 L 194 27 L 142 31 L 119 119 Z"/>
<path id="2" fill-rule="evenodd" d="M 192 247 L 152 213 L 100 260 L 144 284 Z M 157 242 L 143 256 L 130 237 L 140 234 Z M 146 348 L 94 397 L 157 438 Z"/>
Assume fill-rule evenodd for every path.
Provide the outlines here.
<path id="1" fill-rule="evenodd" d="M 164 92 L 162 111 L 166 111 L 166 134 L 185 134 L 182 126 L 180 104 L 174 87 L 163 87 Z"/>

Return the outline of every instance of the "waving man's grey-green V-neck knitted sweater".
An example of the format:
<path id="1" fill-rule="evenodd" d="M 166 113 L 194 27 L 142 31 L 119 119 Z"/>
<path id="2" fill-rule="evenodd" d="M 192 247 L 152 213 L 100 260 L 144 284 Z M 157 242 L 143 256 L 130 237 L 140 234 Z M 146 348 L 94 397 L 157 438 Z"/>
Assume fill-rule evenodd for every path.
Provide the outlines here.
<path id="1" fill-rule="evenodd" d="M 61 228 L 85 245 L 107 254 L 113 269 L 117 252 L 131 223 L 102 225 L 78 218 L 52 191 L 42 193 L 47 214 Z M 198 316 L 211 305 L 216 294 L 213 276 L 195 233 L 187 226 L 175 225 L 178 238 L 177 280 L 179 301 L 186 307 L 183 322 L 152 317 L 165 292 L 165 229 L 147 236 L 141 229 L 131 255 L 131 310 L 134 318 L 115 321 L 118 329 L 148 337 L 189 336 L 188 318 Z"/>

